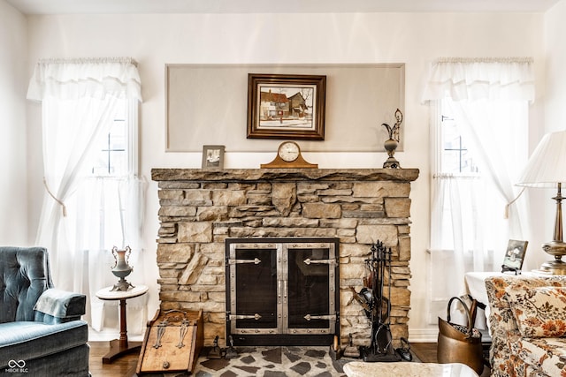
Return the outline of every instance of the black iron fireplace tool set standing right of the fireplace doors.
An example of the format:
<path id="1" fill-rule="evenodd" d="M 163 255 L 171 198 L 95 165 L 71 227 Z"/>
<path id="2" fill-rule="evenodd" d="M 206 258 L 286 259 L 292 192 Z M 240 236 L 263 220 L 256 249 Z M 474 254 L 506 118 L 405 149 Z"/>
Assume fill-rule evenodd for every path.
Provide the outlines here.
<path id="1" fill-rule="evenodd" d="M 361 347 L 363 361 L 388 362 L 410 361 L 412 359 L 409 351 L 409 342 L 402 338 L 402 347 L 394 349 L 393 336 L 391 335 L 389 314 L 391 313 L 391 248 L 387 249 L 382 242 L 378 241 L 371 245 L 370 258 L 365 263 L 370 271 L 367 278 L 363 278 L 363 289 L 359 293 L 354 292 L 354 298 L 363 307 L 365 315 L 371 320 L 371 344 L 369 347 Z M 386 279 L 386 273 L 388 278 Z M 387 280 L 387 283 L 385 281 Z M 388 290 L 387 296 L 384 290 Z"/>

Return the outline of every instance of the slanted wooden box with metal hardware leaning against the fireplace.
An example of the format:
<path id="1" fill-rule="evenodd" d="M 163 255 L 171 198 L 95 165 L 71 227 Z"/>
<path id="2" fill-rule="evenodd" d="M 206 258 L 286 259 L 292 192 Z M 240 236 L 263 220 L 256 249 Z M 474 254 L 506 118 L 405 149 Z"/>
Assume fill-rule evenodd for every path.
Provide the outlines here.
<path id="1" fill-rule="evenodd" d="M 203 349 L 203 338 L 202 310 L 157 310 L 148 322 L 136 373 L 192 373 Z"/>

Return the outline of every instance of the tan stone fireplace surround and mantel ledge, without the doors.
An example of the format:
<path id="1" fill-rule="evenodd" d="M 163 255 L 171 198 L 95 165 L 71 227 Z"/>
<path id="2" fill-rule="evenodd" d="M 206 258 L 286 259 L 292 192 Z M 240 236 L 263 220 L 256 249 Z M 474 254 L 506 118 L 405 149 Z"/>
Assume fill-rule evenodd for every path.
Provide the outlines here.
<path id="1" fill-rule="evenodd" d="M 340 340 L 370 344 L 360 290 L 380 240 L 393 251 L 391 330 L 409 336 L 410 182 L 417 169 L 153 169 L 162 310 L 204 313 L 204 343 L 226 342 L 226 238 L 339 238 Z M 387 294 L 387 290 L 385 291 Z"/>

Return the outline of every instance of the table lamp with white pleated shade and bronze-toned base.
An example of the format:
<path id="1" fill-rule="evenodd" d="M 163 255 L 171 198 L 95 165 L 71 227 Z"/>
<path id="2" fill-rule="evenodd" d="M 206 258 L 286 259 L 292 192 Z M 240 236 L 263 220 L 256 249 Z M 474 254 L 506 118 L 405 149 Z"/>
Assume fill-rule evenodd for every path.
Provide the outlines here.
<path id="1" fill-rule="evenodd" d="M 566 182 L 566 131 L 547 133 L 527 162 L 523 176 L 516 185 L 556 188 L 555 232 L 551 242 L 542 249 L 555 257 L 540 266 L 540 270 L 554 275 L 566 275 L 566 243 L 562 239 L 562 183 Z"/>

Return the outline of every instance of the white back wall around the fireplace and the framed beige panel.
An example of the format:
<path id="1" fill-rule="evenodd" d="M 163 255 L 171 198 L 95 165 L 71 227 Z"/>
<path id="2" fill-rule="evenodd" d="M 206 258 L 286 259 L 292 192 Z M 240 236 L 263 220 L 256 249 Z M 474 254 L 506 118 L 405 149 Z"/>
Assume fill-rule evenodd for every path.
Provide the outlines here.
<path id="1" fill-rule="evenodd" d="M 427 323 L 430 143 L 428 106 L 420 102 L 429 64 L 437 57 L 534 57 L 538 85 L 544 79 L 543 15 L 532 13 L 203 14 L 68 15 L 28 19 L 31 75 L 41 57 L 130 56 L 139 62 L 142 174 L 151 168 L 199 168 L 200 154 L 164 152 L 164 64 L 168 63 L 405 63 L 403 167 L 420 169 L 412 185 L 411 341 L 435 341 Z M 242 95 L 242 94 L 234 94 Z M 245 94 L 243 94 L 245 95 Z M 533 107 L 533 124 L 542 112 Z M 29 106 L 29 143 L 37 145 L 40 107 Z M 394 111 L 394 109 L 392 109 Z M 376 123 L 380 120 L 376 119 Z M 348 127 L 348 124 L 343 126 Z M 241 124 L 241 133 L 246 125 Z M 371 135 L 368 135 L 371 137 Z M 226 146 L 229 150 L 230 146 Z M 41 149 L 30 152 L 40 153 Z M 383 154 L 304 154 L 321 168 L 379 168 Z M 257 168 L 273 154 L 226 154 L 226 168 Z M 41 194 L 32 169 L 30 198 Z M 34 208 L 39 205 L 34 204 Z M 146 245 L 149 315 L 157 309 L 157 185 L 149 185 Z M 502 212 L 502 209 L 501 209 Z M 30 220 L 34 230 L 39 214 Z M 504 247 L 504 246 L 503 246 Z"/>

